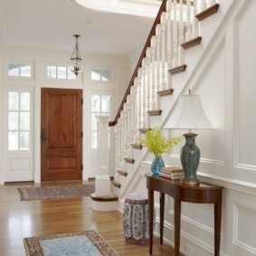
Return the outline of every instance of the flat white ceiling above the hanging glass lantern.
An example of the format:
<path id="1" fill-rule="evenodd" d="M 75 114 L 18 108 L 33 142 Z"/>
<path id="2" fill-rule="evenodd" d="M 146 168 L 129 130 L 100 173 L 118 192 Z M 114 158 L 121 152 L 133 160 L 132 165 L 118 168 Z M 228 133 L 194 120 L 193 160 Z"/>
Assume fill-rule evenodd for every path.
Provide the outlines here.
<path id="1" fill-rule="evenodd" d="M 129 1 L 147 2 L 126 0 Z M 146 42 L 153 23 L 154 18 L 95 11 L 81 7 L 74 0 L 0 0 L 2 46 L 72 52 L 75 42 L 72 35 L 79 33 L 81 52 L 125 54 Z"/>

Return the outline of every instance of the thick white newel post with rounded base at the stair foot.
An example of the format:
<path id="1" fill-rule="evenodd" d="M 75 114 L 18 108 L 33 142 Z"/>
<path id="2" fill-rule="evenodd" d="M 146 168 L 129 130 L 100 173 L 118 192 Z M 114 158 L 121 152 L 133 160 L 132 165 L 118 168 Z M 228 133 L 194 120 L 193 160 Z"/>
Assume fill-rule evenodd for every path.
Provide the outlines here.
<path id="1" fill-rule="evenodd" d="M 118 197 L 111 193 L 109 177 L 109 115 L 98 115 L 99 167 L 95 179 L 95 193 L 90 194 L 92 209 L 96 211 L 117 210 Z"/>

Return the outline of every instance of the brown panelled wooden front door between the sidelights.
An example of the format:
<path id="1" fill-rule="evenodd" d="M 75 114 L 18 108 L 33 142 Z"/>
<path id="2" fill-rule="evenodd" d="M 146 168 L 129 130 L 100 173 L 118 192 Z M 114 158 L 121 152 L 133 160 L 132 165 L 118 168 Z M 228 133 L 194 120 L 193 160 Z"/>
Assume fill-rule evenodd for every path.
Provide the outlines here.
<path id="1" fill-rule="evenodd" d="M 81 180 L 82 91 L 42 89 L 41 180 Z"/>

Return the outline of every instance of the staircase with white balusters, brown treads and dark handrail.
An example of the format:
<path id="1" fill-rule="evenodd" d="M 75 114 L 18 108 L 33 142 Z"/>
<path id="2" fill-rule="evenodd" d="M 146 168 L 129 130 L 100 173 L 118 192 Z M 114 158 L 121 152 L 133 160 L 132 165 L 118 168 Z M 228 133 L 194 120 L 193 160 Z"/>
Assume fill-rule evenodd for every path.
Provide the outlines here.
<path id="1" fill-rule="evenodd" d="M 219 1 L 221 2 L 221 1 Z M 163 128 L 177 100 L 201 65 L 228 8 L 214 0 L 164 0 L 128 85 L 116 119 L 116 175 L 112 182 L 119 209 L 127 194 L 143 187 L 147 150 L 137 144 L 147 128 Z M 206 25 L 207 24 L 207 28 Z M 153 156 L 152 156 L 153 157 Z M 144 184 L 143 184 L 144 182 Z"/>

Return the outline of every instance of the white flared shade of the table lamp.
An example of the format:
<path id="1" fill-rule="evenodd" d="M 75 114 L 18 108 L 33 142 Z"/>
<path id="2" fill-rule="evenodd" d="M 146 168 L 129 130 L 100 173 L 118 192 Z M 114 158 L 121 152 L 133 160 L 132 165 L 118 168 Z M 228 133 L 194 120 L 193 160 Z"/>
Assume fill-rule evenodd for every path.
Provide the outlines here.
<path id="1" fill-rule="evenodd" d="M 212 129 L 207 119 L 199 95 L 187 94 L 181 97 L 183 105 L 176 124 L 168 128 Z"/>

